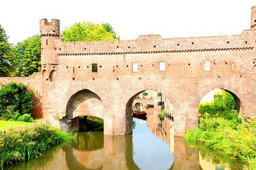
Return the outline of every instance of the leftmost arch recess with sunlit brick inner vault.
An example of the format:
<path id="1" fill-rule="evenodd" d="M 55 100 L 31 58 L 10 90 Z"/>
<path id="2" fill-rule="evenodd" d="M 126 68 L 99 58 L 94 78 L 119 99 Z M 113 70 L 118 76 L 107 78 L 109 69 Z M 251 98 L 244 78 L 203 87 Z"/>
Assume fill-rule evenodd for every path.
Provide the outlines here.
<path id="1" fill-rule="evenodd" d="M 66 116 L 60 120 L 63 131 L 74 132 L 81 130 L 81 123 L 95 119 L 102 120 L 103 127 L 104 106 L 97 94 L 84 89 L 70 97 L 66 106 Z M 89 124 L 92 125 L 92 124 Z"/>

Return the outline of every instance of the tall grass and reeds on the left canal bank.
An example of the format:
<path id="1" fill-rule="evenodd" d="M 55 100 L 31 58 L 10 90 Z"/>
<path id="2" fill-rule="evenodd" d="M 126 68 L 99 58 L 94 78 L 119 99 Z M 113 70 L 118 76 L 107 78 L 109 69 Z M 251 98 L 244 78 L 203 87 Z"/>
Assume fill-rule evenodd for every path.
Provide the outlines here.
<path id="1" fill-rule="evenodd" d="M 32 124 L 28 127 L 12 127 L 0 131 L 0 163 L 30 160 L 42 155 L 49 147 L 70 142 L 71 134 L 61 132 L 48 124 Z"/>

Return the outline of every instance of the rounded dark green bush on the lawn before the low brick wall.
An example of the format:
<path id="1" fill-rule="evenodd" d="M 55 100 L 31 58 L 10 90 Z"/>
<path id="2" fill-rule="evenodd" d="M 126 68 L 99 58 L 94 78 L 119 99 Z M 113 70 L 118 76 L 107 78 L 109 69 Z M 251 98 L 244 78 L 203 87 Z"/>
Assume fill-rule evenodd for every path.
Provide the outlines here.
<path id="1" fill-rule="evenodd" d="M 9 83 L 0 89 L 0 116 L 4 120 L 33 121 L 33 92 L 22 83 Z"/>

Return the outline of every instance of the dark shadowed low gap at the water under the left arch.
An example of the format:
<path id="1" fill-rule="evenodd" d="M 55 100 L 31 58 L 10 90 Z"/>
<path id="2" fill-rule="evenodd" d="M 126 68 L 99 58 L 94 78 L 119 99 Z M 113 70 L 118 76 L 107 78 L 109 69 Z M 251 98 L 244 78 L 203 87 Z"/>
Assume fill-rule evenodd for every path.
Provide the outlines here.
<path id="1" fill-rule="evenodd" d="M 97 117 L 81 117 L 79 119 L 79 131 L 103 131 L 103 120 Z"/>

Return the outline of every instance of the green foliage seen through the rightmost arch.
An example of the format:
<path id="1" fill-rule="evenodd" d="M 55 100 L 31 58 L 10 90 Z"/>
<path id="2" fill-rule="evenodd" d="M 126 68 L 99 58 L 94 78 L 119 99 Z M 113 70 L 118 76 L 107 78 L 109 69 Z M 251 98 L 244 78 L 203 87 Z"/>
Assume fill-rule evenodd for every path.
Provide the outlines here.
<path id="1" fill-rule="evenodd" d="M 225 92 L 225 90 L 214 94 L 214 100 L 211 103 L 204 102 L 198 106 L 200 117 L 207 115 L 209 117 L 223 117 L 228 120 L 237 118 L 236 110 L 237 106 L 234 97 Z"/>

